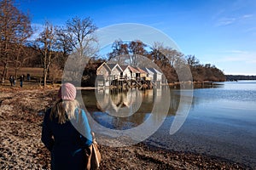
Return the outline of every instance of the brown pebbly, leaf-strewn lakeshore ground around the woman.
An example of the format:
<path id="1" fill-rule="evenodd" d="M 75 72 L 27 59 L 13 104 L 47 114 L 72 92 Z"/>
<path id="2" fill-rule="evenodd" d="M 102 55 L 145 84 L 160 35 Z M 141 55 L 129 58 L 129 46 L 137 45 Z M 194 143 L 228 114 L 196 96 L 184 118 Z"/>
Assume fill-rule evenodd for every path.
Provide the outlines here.
<path id="1" fill-rule="evenodd" d="M 45 108 L 57 88 L 0 87 L 1 169 L 49 169 L 49 152 L 41 142 Z M 101 169 L 250 169 L 218 157 L 160 150 L 145 144 L 101 146 Z"/>

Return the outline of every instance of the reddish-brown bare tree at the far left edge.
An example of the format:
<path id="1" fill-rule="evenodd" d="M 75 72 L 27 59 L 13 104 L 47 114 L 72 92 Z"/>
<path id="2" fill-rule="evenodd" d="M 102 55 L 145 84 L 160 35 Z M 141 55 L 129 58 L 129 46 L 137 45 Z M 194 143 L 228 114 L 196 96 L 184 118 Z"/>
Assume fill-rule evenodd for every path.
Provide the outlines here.
<path id="1" fill-rule="evenodd" d="M 14 6 L 14 1 L 0 2 L 0 61 L 3 63 L 3 77 L 8 75 L 9 63 L 20 65 L 20 50 L 27 38 L 31 37 L 32 28 L 27 14 Z M 18 66 L 16 67 L 18 68 Z"/>

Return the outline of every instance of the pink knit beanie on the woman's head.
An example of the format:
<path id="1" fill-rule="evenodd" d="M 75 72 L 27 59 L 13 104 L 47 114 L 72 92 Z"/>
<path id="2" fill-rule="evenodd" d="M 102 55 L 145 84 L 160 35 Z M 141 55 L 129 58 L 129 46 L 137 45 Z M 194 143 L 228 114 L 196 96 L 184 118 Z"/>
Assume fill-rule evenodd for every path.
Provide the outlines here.
<path id="1" fill-rule="evenodd" d="M 62 84 L 59 89 L 58 97 L 60 99 L 74 100 L 76 98 L 77 90 L 72 83 L 66 82 Z"/>

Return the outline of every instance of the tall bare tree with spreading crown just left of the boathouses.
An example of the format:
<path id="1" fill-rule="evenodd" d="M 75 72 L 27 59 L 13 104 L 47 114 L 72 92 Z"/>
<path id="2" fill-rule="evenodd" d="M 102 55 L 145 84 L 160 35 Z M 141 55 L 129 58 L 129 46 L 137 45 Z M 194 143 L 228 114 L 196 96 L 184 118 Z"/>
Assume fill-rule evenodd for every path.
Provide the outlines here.
<path id="1" fill-rule="evenodd" d="M 64 33 L 68 45 L 72 48 L 72 54 L 67 58 L 63 81 L 79 82 L 81 80 L 85 64 L 95 57 L 98 51 L 95 31 L 96 26 L 90 18 L 75 17 L 67 20 Z"/>

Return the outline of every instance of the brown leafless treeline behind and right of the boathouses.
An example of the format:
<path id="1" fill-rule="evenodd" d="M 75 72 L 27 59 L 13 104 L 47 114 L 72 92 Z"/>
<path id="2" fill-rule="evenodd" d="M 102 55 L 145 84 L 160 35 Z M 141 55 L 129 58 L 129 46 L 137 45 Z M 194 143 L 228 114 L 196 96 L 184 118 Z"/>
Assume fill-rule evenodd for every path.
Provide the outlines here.
<path id="1" fill-rule="evenodd" d="M 161 42 L 154 42 L 153 47 L 147 47 L 140 40 L 131 42 L 123 42 L 116 40 L 112 45 L 112 52 L 108 53 L 107 59 L 114 60 L 119 65 L 123 65 L 126 60 L 131 61 L 131 66 L 147 66 L 152 63 L 157 65 L 166 77 L 167 82 L 179 82 L 180 76 L 186 77 L 188 72 L 179 72 L 180 65 L 188 65 L 191 72 L 191 79 L 187 81 L 193 82 L 224 82 L 224 72 L 219 70 L 212 64 L 201 64 L 200 60 L 195 55 L 185 55 L 171 47 L 164 46 Z M 125 58 L 125 57 L 126 58 Z M 140 57 L 145 59 L 140 61 Z"/>

